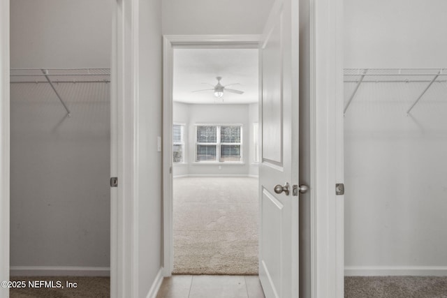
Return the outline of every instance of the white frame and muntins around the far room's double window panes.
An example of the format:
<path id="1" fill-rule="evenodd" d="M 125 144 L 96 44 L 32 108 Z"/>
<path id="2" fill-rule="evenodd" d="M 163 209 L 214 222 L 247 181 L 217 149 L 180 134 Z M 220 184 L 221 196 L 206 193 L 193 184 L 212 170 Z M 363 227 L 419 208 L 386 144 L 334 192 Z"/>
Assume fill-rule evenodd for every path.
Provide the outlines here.
<path id="1" fill-rule="evenodd" d="M 194 163 L 196 164 L 244 164 L 244 154 L 243 154 L 243 131 L 244 131 L 244 125 L 243 124 L 194 124 L 195 126 L 195 137 L 194 137 Z M 198 135 L 197 135 L 197 128 L 199 126 L 216 126 L 216 142 L 215 143 L 201 143 L 198 142 Z M 235 126 L 240 128 L 240 142 L 238 143 L 228 143 L 228 142 L 221 142 L 221 127 L 222 126 Z M 198 161 L 197 154 L 198 154 L 198 146 L 199 145 L 214 145 L 216 146 L 216 159 L 214 161 Z M 221 161 L 221 146 L 222 145 L 239 145 L 240 146 L 240 161 Z"/>

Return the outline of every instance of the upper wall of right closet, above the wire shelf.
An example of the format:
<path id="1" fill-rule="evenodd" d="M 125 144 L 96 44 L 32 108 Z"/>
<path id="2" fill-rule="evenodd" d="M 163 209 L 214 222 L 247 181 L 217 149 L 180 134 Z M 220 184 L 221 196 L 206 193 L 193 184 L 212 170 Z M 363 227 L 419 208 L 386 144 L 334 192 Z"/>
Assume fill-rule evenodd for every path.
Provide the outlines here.
<path id="1" fill-rule="evenodd" d="M 446 11 L 444 0 L 344 0 L 344 67 L 446 67 Z"/>

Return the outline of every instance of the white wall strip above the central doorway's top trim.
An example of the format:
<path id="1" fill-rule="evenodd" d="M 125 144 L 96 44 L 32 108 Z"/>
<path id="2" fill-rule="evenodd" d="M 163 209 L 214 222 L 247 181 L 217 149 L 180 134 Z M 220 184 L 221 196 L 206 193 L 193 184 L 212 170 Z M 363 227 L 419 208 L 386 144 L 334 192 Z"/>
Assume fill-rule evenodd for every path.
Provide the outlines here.
<path id="1" fill-rule="evenodd" d="M 261 34 L 273 0 L 163 0 L 163 34 Z"/>

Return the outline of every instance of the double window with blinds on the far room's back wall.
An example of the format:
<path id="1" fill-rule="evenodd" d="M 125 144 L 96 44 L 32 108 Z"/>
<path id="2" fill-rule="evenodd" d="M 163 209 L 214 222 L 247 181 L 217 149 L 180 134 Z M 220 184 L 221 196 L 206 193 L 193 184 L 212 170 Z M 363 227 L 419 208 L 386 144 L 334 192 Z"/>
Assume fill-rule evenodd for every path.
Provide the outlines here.
<path id="1" fill-rule="evenodd" d="M 242 162 L 242 126 L 196 126 L 197 162 Z"/>

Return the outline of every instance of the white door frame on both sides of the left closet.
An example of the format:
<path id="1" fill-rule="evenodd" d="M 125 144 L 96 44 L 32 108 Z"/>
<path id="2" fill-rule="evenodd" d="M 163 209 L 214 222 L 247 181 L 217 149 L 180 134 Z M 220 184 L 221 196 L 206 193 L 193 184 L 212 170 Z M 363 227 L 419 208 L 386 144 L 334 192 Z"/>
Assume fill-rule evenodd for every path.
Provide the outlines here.
<path id="1" fill-rule="evenodd" d="M 110 191 L 110 297 L 138 295 L 138 210 L 135 135 L 138 103 L 138 0 L 113 1 L 111 166 L 119 187 Z M 10 0 L 0 0 L 0 281 L 10 279 Z M 126 198 L 126 200 L 124 200 Z M 0 298 L 9 297 L 0 287 Z"/>

